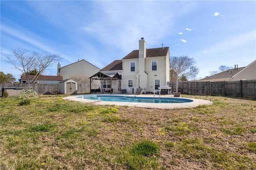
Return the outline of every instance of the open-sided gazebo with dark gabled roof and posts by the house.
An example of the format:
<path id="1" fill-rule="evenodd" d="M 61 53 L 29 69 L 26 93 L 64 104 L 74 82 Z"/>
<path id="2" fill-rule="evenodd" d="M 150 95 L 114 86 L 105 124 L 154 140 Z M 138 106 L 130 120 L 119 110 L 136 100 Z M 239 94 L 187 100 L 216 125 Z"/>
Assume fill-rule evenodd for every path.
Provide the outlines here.
<path id="1" fill-rule="evenodd" d="M 118 73 L 102 73 L 99 71 L 98 73 L 92 75 L 89 77 L 90 79 L 90 93 L 92 93 L 92 80 L 100 80 L 100 93 L 103 93 L 103 88 L 102 88 L 102 81 L 103 80 L 110 80 L 110 94 L 112 94 L 112 80 L 119 80 L 119 89 L 121 89 L 121 77 Z M 121 93 L 121 90 L 120 90 Z"/>

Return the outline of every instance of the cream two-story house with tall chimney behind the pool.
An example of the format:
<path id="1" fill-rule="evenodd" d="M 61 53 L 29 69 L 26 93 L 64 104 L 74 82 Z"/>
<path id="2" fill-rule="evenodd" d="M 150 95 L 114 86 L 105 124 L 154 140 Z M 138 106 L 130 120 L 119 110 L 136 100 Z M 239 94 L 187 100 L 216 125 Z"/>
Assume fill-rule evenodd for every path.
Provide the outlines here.
<path id="1" fill-rule="evenodd" d="M 115 60 L 100 72 L 118 73 L 121 89 L 127 93 L 135 93 L 137 88 L 145 92 L 153 92 L 170 81 L 169 47 L 146 49 L 144 38 L 139 40 L 139 49 L 134 50 L 121 60 Z M 102 81 L 103 88 L 110 88 L 110 81 Z M 120 93 L 119 80 L 112 81 L 113 93 Z"/>

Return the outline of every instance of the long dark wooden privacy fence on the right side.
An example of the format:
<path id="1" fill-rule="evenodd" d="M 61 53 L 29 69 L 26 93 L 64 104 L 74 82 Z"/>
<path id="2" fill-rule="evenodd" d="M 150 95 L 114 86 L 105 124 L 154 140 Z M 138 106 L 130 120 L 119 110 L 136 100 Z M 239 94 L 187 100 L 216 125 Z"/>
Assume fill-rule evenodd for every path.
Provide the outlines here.
<path id="1" fill-rule="evenodd" d="M 167 82 L 176 92 L 176 82 Z M 256 80 L 179 81 L 178 92 L 189 95 L 228 95 L 256 98 Z"/>

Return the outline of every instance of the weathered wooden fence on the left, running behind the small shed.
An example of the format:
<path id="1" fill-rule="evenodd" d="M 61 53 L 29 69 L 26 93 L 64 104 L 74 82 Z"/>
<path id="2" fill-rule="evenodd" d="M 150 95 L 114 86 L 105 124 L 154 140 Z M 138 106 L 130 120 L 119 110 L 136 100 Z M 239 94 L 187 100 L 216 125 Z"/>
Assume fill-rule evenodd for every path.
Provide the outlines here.
<path id="1" fill-rule="evenodd" d="M 0 95 L 2 96 L 4 87 L 33 87 L 33 90 L 37 94 L 50 95 L 59 93 L 59 84 L 38 84 L 38 83 L 3 83 L 1 84 Z M 77 93 L 90 93 L 90 84 L 80 84 L 77 85 Z"/>

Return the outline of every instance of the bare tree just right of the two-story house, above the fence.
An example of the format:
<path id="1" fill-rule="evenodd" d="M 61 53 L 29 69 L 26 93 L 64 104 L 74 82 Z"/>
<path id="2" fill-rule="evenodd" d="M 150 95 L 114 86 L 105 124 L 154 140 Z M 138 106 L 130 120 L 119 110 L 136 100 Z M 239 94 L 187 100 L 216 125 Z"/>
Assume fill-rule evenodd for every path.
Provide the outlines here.
<path id="1" fill-rule="evenodd" d="M 187 55 L 170 57 L 170 81 L 176 80 L 177 71 L 178 80 L 180 80 L 182 76 L 187 79 L 193 79 L 199 73 L 199 69 L 196 67 L 196 61 L 194 58 L 190 58 Z"/>

